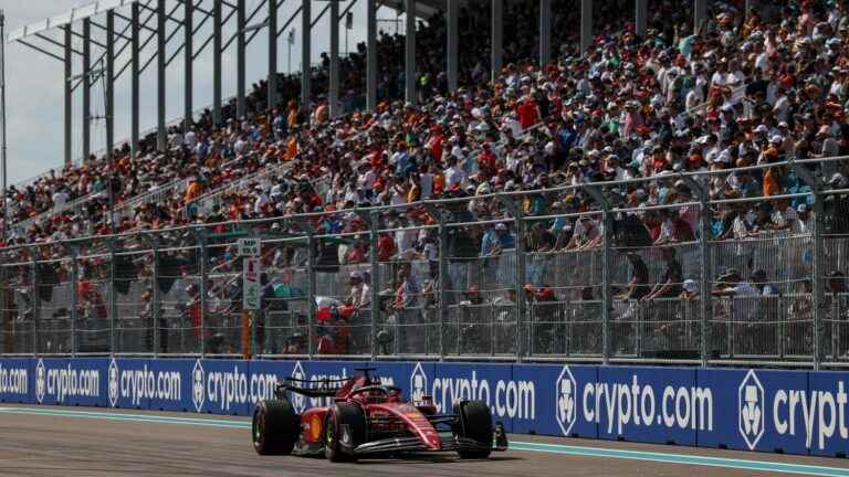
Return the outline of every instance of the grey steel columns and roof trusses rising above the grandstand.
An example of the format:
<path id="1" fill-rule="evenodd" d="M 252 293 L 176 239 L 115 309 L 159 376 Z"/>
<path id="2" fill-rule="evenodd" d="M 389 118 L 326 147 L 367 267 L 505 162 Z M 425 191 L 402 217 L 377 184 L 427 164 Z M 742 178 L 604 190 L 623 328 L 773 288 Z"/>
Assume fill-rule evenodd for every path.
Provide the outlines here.
<path id="1" fill-rule="evenodd" d="M 248 0 L 99 0 L 50 19 L 18 29 L 9 35 L 9 43 L 20 43 L 61 62 L 64 65 L 64 161 L 73 162 L 73 126 L 82 119 L 82 157 L 92 152 L 92 86 L 102 81 L 105 95 L 106 153 L 115 149 L 115 84 L 125 75 L 130 83 L 130 138 L 133 153 L 139 150 L 140 120 L 139 92 L 144 87 L 140 75 L 148 68 L 156 68 L 156 131 L 157 146 L 165 149 L 167 140 L 166 88 L 168 66 L 179 55 L 184 56 L 185 112 L 184 127 L 189 128 L 193 115 L 195 63 L 207 49 L 212 50 L 213 121 L 221 124 L 222 115 L 222 56 L 231 47 L 237 56 L 237 116 L 242 117 L 247 108 L 247 47 L 264 30 L 268 39 L 268 106 L 279 104 L 276 97 L 277 51 L 283 32 L 301 18 L 301 64 L 311 64 L 311 42 L 316 36 L 314 29 L 321 18 L 331 14 L 329 87 L 327 92 L 331 115 L 339 114 L 339 22 L 356 4 L 357 0 L 290 0 L 301 1 L 282 26 L 281 7 L 285 0 L 261 0 L 248 10 Z M 491 67 L 493 77 L 501 71 L 503 52 L 503 2 L 491 0 L 492 44 Z M 539 2 L 539 63 L 552 59 L 552 0 L 527 0 Z M 706 0 L 694 1 L 693 22 L 698 26 L 706 15 Z M 322 4 L 317 18 L 313 18 L 312 3 Z M 347 3 L 340 11 L 342 2 Z M 458 87 L 459 78 L 459 29 L 458 12 L 464 0 L 365 0 L 366 2 L 366 109 L 374 110 L 377 104 L 377 10 L 388 7 L 398 12 L 413 12 L 415 18 L 428 18 L 436 11 L 446 11 L 447 77 L 451 89 Z M 594 0 L 574 0 L 580 9 L 580 47 L 589 49 L 593 39 Z M 746 2 L 748 3 L 748 2 Z M 644 34 L 648 0 L 635 0 L 635 24 L 638 34 Z M 182 10 L 180 13 L 179 11 Z M 211 34 L 202 31 L 211 23 Z M 235 25 L 235 33 L 224 39 L 228 25 Z M 405 45 L 405 98 L 416 103 L 416 22 L 406 22 Z M 104 33 L 96 40 L 92 30 Z M 80 46 L 82 43 L 82 46 Z M 148 45 L 153 43 L 153 47 Z M 168 53 L 170 47 L 171 53 Z M 126 54 L 129 51 L 128 55 Z M 147 56 L 148 50 L 154 50 Z M 119 57 L 129 59 L 118 64 Z M 73 66 L 82 65 L 82 73 L 74 76 Z M 74 117 L 74 94 L 82 95 L 82 115 Z M 301 103 L 308 110 L 312 100 L 311 75 L 301 75 Z"/>

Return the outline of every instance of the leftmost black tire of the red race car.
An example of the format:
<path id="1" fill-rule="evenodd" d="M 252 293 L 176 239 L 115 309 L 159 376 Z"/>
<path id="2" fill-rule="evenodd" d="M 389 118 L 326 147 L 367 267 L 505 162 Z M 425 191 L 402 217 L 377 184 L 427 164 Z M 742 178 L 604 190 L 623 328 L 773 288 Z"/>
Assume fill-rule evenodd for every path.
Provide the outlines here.
<path id="1" fill-rule="evenodd" d="M 253 410 L 253 448 L 259 455 L 289 455 L 297 442 L 301 420 L 289 401 L 261 401 Z"/>

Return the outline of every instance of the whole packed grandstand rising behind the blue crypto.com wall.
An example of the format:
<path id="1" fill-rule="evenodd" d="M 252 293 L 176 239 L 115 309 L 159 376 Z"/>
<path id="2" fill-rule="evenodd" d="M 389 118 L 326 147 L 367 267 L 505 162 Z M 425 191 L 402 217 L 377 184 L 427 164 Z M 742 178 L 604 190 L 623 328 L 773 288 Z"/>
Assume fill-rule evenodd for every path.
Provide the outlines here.
<path id="1" fill-rule="evenodd" d="M 80 21 L 125 3 L 170 4 Z M 0 349 L 845 364 L 846 7 L 525 3 L 387 2 L 429 17 L 11 188 Z"/>

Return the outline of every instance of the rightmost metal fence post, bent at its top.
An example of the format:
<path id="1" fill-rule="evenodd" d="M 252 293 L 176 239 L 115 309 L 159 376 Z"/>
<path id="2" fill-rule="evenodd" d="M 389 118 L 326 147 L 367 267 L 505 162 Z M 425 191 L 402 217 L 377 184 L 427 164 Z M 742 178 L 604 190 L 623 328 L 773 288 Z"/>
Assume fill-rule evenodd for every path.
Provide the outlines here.
<path id="1" fill-rule="evenodd" d="M 814 264 L 811 269 L 814 285 L 814 322 L 813 327 L 813 340 L 811 340 L 811 361 L 814 370 L 819 370 L 819 364 L 822 359 L 820 356 L 820 340 L 822 339 L 822 308 L 825 305 L 824 290 L 822 290 L 822 194 L 819 188 L 819 182 L 814 176 L 808 172 L 807 169 L 800 167 L 795 160 L 790 160 L 790 168 L 796 176 L 810 188 L 810 193 L 814 195 Z"/>

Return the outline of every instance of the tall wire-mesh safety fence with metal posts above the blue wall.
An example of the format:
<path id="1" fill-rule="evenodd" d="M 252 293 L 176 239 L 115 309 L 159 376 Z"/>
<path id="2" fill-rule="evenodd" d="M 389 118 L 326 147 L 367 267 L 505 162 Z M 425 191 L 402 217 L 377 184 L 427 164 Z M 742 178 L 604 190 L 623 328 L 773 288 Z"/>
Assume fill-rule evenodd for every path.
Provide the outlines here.
<path id="1" fill-rule="evenodd" d="M 0 351 L 842 367 L 849 191 L 825 163 L 9 247 Z M 777 167 L 782 195 L 704 192 Z M 675 200 L 627 203 L 649 187 Z M 250 312 L 241 237 L 262 242 Z"/>

